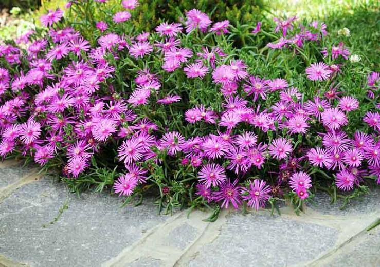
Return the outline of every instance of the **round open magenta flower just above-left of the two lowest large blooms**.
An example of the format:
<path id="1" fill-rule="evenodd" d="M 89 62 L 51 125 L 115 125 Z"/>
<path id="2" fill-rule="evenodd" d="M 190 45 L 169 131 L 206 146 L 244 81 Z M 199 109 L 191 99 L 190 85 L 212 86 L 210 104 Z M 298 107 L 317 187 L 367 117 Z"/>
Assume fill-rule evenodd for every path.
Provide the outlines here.
<path id="1" fill-rule="evenodd" d="M 224 168 L 219 164 L 207 164 L 198 172 L 200 182 L 205 184 L 206 188 L 211 186 L 219 186 L 227 179 Z"/>

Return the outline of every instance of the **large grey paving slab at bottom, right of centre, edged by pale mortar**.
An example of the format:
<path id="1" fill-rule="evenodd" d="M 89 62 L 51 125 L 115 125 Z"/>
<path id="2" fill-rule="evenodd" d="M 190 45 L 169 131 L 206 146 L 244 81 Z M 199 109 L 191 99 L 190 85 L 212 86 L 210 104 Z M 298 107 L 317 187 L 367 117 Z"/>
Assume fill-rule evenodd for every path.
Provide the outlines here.
<path id="1" fill-rule="evenodd" d="M 189 266 L 289 266 L 328 250 L 337 234 L 333 228 L 278 216 L 233 213 L 218 239 L 202 247 Z"/>

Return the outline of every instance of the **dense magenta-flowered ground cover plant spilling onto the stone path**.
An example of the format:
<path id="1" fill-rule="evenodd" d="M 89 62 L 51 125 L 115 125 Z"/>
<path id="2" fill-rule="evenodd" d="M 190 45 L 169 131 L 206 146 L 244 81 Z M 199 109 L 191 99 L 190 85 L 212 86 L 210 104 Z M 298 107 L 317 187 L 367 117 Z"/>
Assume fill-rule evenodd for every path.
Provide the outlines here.
<path id="1" fill-rule="evenodd" d="M 153 194 L 160 211 L 209 207 L 210 220 L 280 201 L 298 212 L 318 189 L 347 203 L 380 183 L 378 63 L 348 28 L 191 9 L 143 32 L 138 6 L 69 2 L 0 46 L 2 157 L 58 168 L 73 192 Z"/>

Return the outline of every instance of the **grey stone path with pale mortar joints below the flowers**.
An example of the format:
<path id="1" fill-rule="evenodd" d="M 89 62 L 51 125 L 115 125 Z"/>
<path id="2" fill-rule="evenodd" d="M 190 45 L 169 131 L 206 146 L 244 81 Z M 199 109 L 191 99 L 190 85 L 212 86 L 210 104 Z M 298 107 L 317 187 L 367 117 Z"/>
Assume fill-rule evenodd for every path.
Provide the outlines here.
<path id="1" fill-rule="evenodd" d="M 19 163 L 0 164 L 0 266 L 380 266 L 380 188 L 345 210 L 321 194 L 296 216 L 269 211 L 157 215 L 108 194 L 68 194 Z"/>

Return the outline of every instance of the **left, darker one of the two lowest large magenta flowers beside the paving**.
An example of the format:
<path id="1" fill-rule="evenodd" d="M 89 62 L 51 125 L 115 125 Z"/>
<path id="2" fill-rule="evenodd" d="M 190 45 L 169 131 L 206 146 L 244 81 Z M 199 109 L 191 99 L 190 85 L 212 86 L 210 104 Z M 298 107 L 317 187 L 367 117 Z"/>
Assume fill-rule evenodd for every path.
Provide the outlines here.
<path id="1" fill-rule="evenodd" d="M 229 206 L 229 203 L 231 202 L 232 206 L 236 209 L 239 208 L 239 205 L 242 204 L 241 198 L 240 198 L 240 186 L 237 186 L 238 179 L 235 179 L 233 183 L 228 179 L 225 183 L 223 183 L 220 186 L 220 190 L 218 192 L 215 192 L 214 194 L 214 200 L 215 201 L 222 201 L 221 207 L 225 207 L 226 209 Z"/>

